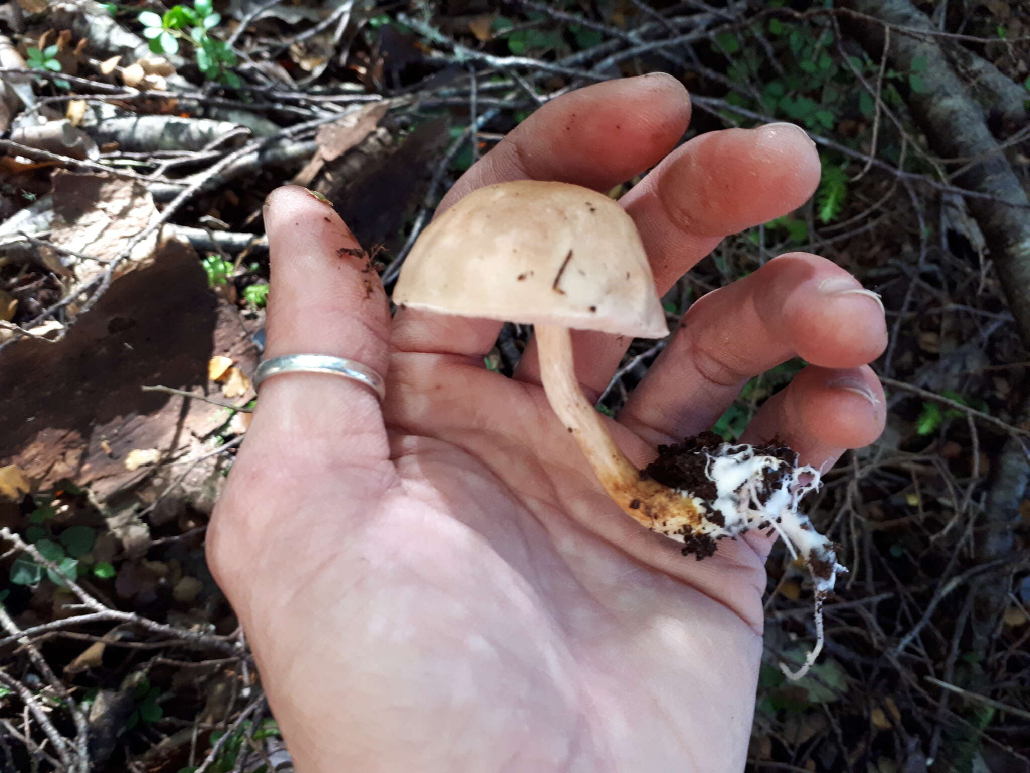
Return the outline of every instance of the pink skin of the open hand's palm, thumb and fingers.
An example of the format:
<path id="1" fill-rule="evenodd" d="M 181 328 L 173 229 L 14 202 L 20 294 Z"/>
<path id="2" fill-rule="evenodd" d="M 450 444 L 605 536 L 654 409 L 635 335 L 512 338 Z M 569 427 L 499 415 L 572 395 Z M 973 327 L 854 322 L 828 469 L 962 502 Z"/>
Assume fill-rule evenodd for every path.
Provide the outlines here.
<path id="1" fill-rule="evenodd" d="M 607 189 L 661 162 L 688 116 L 667 76 L 584 89 L 530 116 L 448 202 L 529 174 Z M 623 202 L 658 284 L 720 235 L 801 204 L 817 167 L 783 127 L 677 149 Z M 208 537 L 298 770 L 743 769 L 767 541 L 684 559 L 600 492 L 531 355 L 516 379 L 483 367 L 496 324 L 410 310 L 391 323 L 375 275 L 338 251 L 356 246 L 346 226 L 301 189 L 274 193 L 265 222 L 269 355 L 388 373 L 381 408 L 342 378 L 265 383 Z M 870 442 L 884 404 L 864 366 L 884 320 L 870 298 L 819 290 L 839 276 L 785 257 L 697 304 L 610 425 L 633 463 L 710 426 L 745 378 L 794 352 L 813 366 L 751 439 L 779 434 L 815 466 Z M 625 344 L 579 338 L 587 388 Z"/>

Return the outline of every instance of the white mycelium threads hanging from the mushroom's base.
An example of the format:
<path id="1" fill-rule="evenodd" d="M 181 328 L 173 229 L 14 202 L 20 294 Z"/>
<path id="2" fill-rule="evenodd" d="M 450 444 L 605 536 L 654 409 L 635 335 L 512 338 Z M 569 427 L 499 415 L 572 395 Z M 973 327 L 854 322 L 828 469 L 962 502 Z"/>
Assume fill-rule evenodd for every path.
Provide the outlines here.
<path id="1" fill-rule="evenodd" d="M 780 669 L 791 679 L 808 673 L 823 647 L 823 601 L 833 590 L 836 575 L 847 568 L 836 561 L 832 543 L 819 534 L 804 513 L 798 512 L 801 497 L 820 485 L 819 470 L 797 467 L 782 459 L 759 453 L 752 445 L 723 443 L 712 451 L 701 450 L 707 459 L 706 473 L 716 485 L 714 502 L 694 498 L 702 513 L 722 516 L 721 525 L 712 523 L 709 514 L 697 529 L 713 539 L 733 537 L 759 526 L 768 525 L 784 538 L 791 553 L 801 554 L 812 572 L 816 603 L 816 646 L 805 657 L 796 672 L 786 665 Z M 778 489 L 767 489 L 766 473 L 782 473 Z M 763 504 L 764 502 L 764 504 Z"/>

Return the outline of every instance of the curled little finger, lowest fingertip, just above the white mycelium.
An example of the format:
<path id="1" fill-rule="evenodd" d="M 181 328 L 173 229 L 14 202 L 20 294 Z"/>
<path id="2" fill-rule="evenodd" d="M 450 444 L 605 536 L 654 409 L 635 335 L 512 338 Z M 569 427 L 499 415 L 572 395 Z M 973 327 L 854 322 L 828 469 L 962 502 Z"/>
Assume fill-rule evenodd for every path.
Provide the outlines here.
<path id="1" fill-rule="evenodd" d="M 884 390 L 871 368 L 810 366 L 765 401 L 741 439 L 763 443 L 778 438 L 797 452 L 802 465 L 825 472 L 846 449 L 874 442 L 886 419 Z M 804 504 L 802 500 L 802 508 Z M 776 536 L 753 530 L 745 539 L 764 560 Z"/>

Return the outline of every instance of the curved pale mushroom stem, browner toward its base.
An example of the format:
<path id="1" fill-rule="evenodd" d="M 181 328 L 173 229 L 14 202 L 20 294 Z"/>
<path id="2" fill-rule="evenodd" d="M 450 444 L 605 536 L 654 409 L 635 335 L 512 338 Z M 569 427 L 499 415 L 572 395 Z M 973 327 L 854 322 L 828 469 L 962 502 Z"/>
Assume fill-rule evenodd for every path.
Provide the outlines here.
<path id="1" fill-rule="evenodd" d="M 689 519 L 689 514 L 683 510 L 692 508 L 685 502 L 676 507 L 670 501 L 672 490 L 641 478 L 640 470 L 609 434 L 600 413 L 583 396 L 576 378 L 569 328 L 537 325 L 534 333 L 547 399 L 558 418 L 573 433 L 608 496 L 629 517 L 648 529 L 671 536 L 672 532 L 682 530 Z M 674 515 L 674 510 L 680 512 Z"/>

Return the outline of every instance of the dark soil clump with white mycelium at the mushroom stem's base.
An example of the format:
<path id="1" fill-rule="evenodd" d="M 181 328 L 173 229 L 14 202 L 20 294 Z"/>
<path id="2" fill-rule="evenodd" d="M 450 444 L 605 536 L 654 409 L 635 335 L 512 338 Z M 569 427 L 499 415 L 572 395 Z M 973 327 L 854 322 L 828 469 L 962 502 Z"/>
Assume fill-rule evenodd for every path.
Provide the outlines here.
<path id="1" fill-rule="evenodd" d="M 848 571 L 837 563 L 833 543 L 797 509 L 800 499 L 819 488 L 819 470 L 799 466 L 785 445 L 727 443 L 711 432 L 659 446 L 658 453 L 645 475 L 689 498 L 700 513 L 692 524 L 676 524 L 675 531 L 657 529 L 682 541 L 684 554 L 693 553 L 699 561 L 715 553 L 717 540 L 768 528 L 784 538 L 793 556 L 800 553 L 804 560 L 815 590 L 816 646 L 798 671 L 781 665 L 788 677 L 800 678 L 822 649 L 823 602 L 836 575 Z"/>

